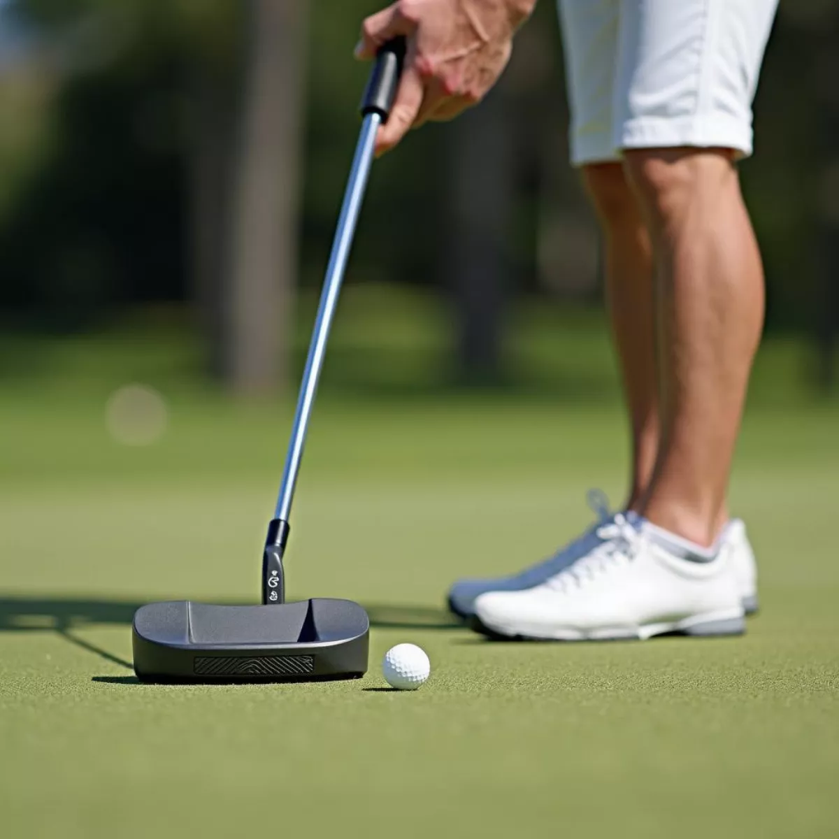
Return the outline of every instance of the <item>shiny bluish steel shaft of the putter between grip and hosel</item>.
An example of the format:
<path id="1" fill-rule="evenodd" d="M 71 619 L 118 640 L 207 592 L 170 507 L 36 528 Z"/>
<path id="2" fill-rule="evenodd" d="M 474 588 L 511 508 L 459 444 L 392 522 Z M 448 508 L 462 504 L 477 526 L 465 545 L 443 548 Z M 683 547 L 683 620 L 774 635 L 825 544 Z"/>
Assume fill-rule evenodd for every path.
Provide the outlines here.
<path id="1" fill-rule="evenodd" d="M 326 341 L 332 326 L 332 319 L 341 292 L 341 283 L 347 270 L 347 261 L 352 249 L 352 239 L 356 232 L 358 216 L 362 208 L 367 179 L 373 164 L 376 134 L 382 122 L 377 113 L 364 117 L 361 136 L 358 138 L 355 158 L 352 161 L 352 171 L 341 206 L 341 216 L 338 219 L 335 241 L 332 243 L 332 253 L 326 268 L 326 279 L 320 293 L 320 305 L 315 320 L 315 331 L 309 346 L 309 356 L 306 358 L 303 383 L 300 385 L 300 395 L 297 399 L 297 409 L 294 412 L 294 425 L 291 430 L 289 453 L 286 456 L 283 482 L 279 487 L 279 498 L 274 519 L 289 521 L 291 503 L 294 500 L 294 487 L 300 472 L 300 461 L 303 459 L 306 434 L 309 431 L 309 420 L 315 404 L 320 371 L 326 355 Z"/>

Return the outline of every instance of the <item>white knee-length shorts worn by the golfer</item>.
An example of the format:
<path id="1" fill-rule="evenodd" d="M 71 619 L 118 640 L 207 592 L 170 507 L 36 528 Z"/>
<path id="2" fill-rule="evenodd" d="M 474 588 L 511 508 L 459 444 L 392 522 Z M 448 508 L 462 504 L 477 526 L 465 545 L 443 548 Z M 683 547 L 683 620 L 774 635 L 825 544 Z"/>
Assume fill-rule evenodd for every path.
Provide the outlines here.
<path id="1" fill-rule="evenodd" d="M 571 162 L 674 146 L 752 154 L 778 0 L 559 0 Z"/>

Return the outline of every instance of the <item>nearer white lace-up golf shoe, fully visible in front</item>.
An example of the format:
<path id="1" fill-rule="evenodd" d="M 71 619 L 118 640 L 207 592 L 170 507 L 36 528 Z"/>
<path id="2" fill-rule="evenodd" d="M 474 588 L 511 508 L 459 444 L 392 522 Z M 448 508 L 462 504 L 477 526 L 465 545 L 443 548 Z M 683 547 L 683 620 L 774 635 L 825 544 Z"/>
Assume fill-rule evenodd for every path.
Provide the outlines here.
<path id="1" fill-rule="evenodd" d="M 744 632 L 731 539 L 706 556 L 691 554 L 623 515 L 599 535 L 602 545 L 544 584 L 478 597 L 477 630 L 560 641 Z"/>

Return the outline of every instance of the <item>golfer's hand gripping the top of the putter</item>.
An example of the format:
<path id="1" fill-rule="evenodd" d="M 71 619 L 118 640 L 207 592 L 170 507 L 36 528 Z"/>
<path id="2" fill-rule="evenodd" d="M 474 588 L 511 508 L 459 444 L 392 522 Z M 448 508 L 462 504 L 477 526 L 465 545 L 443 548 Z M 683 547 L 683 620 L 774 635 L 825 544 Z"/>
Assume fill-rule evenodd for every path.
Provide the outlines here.
<path id="1" fill-rule="evenodd" d="M 399 0 L 362 25 L 356 56 L 375 58 L 398 35 L 408 39 L 404 72 L 377 154 L 424 122 L 456 117 L 480 102 L 501 76 L 513 34 L 536 0 Z"/>

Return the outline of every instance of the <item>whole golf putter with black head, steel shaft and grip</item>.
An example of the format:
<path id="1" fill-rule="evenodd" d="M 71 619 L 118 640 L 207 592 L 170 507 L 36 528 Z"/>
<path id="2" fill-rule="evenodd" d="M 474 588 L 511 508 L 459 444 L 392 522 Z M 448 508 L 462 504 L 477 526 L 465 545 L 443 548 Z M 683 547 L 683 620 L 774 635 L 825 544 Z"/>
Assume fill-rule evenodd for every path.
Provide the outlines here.
<path id="1" fill-rule="evenodd" d="M 134 672 L 142 681 L 305 681 L 360 678 L 367 672 L 370 621 L 348 600 L 285 602 L 283 560 L 289 516 L 326 341 L 373 164 L 376 134 L 387 122 L 399 86 L 405 41 L 379 51 L 362 101 L 362 130 L 326 279 L 320 295 L 303 383 L 263 552 L 261 606 L 151 603 L 133 620 Z"/>

